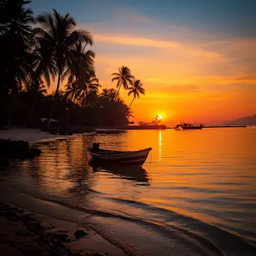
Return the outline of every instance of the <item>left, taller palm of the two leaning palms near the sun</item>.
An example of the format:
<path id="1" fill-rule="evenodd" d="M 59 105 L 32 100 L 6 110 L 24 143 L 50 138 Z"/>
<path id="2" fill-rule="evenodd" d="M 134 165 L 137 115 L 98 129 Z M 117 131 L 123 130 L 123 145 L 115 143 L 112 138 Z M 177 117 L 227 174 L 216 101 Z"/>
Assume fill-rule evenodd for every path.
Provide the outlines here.
<path id="1" fill-rule="evenodd" d="M 124 90 L 127 90 L 129 85 L 132 85 L 132 81 L 134 79 L 134 76 L 131 75 L 131 70 L 129 70 L 128 67 L 122 66 L 118 68 L 119 73 L 112 73 L 112 76 L 115 76 L 112 79 L 112 82 L 118 81 L 117 82 L 117 88 L 118 88 L 118 93 L 116 94 L 115 97 L 118 97 L 119 91 L 121 89 L 121 86 L 123 85 Z"/>

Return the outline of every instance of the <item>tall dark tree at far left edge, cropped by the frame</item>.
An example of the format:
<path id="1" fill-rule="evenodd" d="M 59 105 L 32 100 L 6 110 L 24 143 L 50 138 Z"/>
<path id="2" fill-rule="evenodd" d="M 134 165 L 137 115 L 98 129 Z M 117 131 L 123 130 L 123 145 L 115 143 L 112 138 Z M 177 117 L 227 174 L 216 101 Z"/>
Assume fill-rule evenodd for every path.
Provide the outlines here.
<path id="1" fill-rule="evenodd" d="M 9 97 L 7 125 L 10 126 L 12 97 L 28 83 L 31 73 L 31 23 L 33 13 L 25 8 L 28 1 L 0 2 L 0 91 Z"/>

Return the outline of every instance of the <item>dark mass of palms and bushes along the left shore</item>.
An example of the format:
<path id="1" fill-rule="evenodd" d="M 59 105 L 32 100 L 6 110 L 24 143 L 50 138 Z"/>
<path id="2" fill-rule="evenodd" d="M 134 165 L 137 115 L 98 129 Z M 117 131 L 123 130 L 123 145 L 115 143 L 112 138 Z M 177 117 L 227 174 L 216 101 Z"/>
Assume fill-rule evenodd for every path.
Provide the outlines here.
<path id="1" fill-rule="evenodd" d="M 130 107 L 144 95 L 140 80 L 122 66 L 112 73 L 118 90 L 101 88 L 95 53 L 88 49 L 92 34 L 76 30 L 69 13 L 35 17 L 29 2 L 0 0 L 0 124 L 31 127 L 40 118 L 47 118 L 46 128 L 50 118 L 61 127 L 130 124 Z M 57 88 L 48 95 L 54 81 Z M 129 107 L 119 96 L 122 87 L 133 96 Z"/>

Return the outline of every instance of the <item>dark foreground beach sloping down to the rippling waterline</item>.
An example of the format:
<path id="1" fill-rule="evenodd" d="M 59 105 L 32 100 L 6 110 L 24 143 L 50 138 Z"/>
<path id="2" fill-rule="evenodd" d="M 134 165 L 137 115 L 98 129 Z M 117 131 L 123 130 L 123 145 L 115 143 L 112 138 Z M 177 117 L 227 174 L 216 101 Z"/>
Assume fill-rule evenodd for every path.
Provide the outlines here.
<path id="1" fill-rule="evenodd" d="M 126 255 L 88 227 L 89 213 L 17 192 L 10 183 L 0 190 L 0 255 Z M 69 219 L 74 215 L 77 223 Z"/>

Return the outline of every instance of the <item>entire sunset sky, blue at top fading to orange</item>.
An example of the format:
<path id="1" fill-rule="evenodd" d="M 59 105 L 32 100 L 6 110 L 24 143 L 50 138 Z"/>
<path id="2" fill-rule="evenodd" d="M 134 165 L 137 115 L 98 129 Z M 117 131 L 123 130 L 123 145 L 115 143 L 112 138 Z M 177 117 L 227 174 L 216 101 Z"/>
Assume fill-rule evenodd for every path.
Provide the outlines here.
<path id="1" fill-rule="evenodd" d="M 222 124 L 256 114 L 256 0 L 32 0 L 34 14 L 70 13 L 91 31 L 97 78 L 127 66 L 146 95 L 133 121 Z M 55 89 L 52 83 L 51 89 Z M 62 85 L 64 88 L 64 84 Z M 129 106 L 132 97 L 121 89 Z"/>

